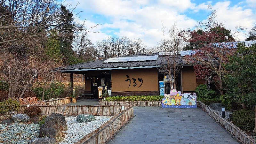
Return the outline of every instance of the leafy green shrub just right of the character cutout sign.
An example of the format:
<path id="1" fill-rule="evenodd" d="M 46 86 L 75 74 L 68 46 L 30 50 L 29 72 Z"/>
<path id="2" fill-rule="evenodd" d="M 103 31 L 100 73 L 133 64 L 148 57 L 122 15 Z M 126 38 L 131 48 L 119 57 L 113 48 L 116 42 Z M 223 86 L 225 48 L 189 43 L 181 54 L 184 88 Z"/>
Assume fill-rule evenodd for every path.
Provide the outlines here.
<path id="1" fill-rule="evenodd" d="M 197 97 L 202 97 L 202 98 L 213 98 L 213 95 L 216 93 L 214 90 L 208 90 L 207 85 L 200 84 L 196 87 L 195 90 L 196 96 Z"/>

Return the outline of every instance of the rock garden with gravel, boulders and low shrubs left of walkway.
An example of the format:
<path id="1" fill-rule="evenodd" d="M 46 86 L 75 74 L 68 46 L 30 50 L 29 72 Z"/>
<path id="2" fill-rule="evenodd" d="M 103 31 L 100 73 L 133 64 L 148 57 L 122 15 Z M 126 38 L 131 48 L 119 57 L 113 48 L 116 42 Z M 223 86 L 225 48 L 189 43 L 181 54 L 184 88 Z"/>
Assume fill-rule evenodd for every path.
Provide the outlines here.
<path id="1" fill-rule="evenodd" d="M 17 101 L 6 100 L 5 103 L 10 109 L 1 111 L 0 108 L 0 143 L 4 144 L 73 144 L 112 118 L 88 114 L 76 117 L 57 113 L 38 115 L 41 109 L 34 106 L 19 113 Z"/>

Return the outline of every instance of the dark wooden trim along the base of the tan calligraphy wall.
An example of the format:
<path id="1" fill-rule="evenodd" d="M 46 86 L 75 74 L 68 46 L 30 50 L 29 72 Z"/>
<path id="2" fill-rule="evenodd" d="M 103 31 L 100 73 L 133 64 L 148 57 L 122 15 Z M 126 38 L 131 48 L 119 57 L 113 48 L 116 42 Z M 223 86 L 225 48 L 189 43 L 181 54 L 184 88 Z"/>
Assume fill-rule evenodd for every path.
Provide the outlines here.
<path id="1" fill-rule="evenodd" d="M 133 92 L 111 92 L 111 96 L 116 95 L 123 95 L 123 96 L 130 96 L 130 95 L 159 95 L 158 91 L 133 91 Z"/>

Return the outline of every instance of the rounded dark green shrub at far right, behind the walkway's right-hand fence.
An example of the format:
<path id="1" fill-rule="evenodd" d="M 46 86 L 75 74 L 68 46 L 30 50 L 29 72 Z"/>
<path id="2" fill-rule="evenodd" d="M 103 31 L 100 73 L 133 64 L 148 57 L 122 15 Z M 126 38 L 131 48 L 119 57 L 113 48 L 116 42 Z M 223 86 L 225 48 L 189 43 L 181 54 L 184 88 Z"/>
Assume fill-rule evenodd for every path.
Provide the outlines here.
<path id="1" fill-rule="evenodd" d="M 237 110 L 233 114 L 232 123 L 242 130 L 253 130 L 255 113 L 252 110 Z"/>

